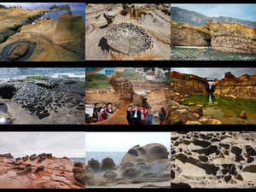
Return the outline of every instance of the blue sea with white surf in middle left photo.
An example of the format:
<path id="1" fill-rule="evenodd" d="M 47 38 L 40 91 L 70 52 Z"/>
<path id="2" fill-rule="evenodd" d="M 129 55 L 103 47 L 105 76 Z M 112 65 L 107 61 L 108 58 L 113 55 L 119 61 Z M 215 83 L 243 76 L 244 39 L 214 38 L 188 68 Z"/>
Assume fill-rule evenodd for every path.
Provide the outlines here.
<path id="1" fill-rule="evenodd" d="M 85 81 L 83 67 L 0 67 L 0 82 L 8 79 L 23 79 L 27 76 L 48 77 L 49 79 L 72 79 Z"/>

